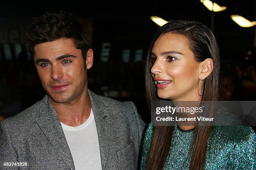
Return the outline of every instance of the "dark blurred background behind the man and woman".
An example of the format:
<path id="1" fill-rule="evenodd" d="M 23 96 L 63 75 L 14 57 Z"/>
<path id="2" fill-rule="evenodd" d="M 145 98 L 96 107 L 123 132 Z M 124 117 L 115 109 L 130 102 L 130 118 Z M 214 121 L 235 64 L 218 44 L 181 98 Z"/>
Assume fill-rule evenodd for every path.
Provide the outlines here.
<path id="1" fill-rule="evenodd" d="M 200 0 L 155 2 L 141 7 L 132 2 L 116 7 L 85 1 L 0 2 L 0 115 L 15 115 L 46 94 L 26 49 L 24 32 L 32 17 L 59 10 L 79 16 L 87 29 L 94 50 L 94 65 L 88 71 L 90 90 L 133 101 L 147 123 L 150 112 L 144 92 L 144 65 L 149 43 L 159 27 L 150 20 L 152 15 L 165 20 L 197 20 L 211 28 L 220 45 L 223 100 L 255 100 L 256 26 L 242 28 L 230 15 L 256 20 L 256 1 L 215 2 L 227 6 L 227 10 L 212 14 Z"/>

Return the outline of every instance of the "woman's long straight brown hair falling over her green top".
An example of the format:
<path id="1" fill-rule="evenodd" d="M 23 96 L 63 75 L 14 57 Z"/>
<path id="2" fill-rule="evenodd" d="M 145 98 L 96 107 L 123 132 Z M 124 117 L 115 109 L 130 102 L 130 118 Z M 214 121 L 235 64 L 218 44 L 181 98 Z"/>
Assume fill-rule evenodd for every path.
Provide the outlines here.
<path id="1" fill-rule="evenodd" d="M 156 40 L 165 33 L 180 34 L 189 40 L 190 50 L 195 56 L 195 61 L 202 62 L 207 58 L 213 60 L 212 73 L 204 81 L 204 92 L 202 101 L 219 100 L 219 69 L 220 56 L 217 41 L 209 28 L 195 21 L 173 20 L 163 25 L 156 31 L 148 50 L 146 60 L 146 98 L 149 109 L 151 101 L 162 100 L 156 95 L 156 85 L 154 84 L 150 70 L 154 62 L 150 60 L 151 50 Z M 204 110 L 207 110 L 209 117 L 214 116 L 215 105 L 207 102 Z M 201 123 L 201 122 L 200 122 Z M 211 131 L 211 124 L 205 122 L 194 128 L 194 140 L 190 148 L 191 161 L 190 170 L 202 170 L 205 167 L 205 155 L 207 150 L 207 140 Z M 148 152 L 146 170 L 162 170 L 169 154 L 171 145 L 173 126 L 154 126 L 151 147 Z M 189 158 L 190 155 L 188 155 Z"/>

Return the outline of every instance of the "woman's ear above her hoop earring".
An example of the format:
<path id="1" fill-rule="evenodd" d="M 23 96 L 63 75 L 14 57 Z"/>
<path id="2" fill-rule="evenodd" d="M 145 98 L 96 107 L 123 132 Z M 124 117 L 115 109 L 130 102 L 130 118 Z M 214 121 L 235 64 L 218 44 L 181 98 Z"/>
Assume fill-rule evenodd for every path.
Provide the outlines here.
<path id="1" fill-rule="evenodd" d="M 199 79 L 204 80 L 208 75 L 212 73 L 213 70 L 213 61 L 211 58 L 205 59 L 203 62 L 200 63 L 200 75 Z"/>

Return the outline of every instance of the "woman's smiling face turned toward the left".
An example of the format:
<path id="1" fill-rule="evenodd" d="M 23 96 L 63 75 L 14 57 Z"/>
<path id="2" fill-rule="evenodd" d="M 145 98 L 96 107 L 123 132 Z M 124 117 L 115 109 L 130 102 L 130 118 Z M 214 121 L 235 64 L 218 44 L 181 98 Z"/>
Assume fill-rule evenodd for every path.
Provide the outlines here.
<path id="1" fill-rule="evenodd" d="M 162 99 L 200 100 L 197 91 L 200 63 L 194 60 L 188 43 L 187 37 L 174 33 L 165 33 L 154 43 L 151 76 L 157 86 L 157 95 Z"/>

